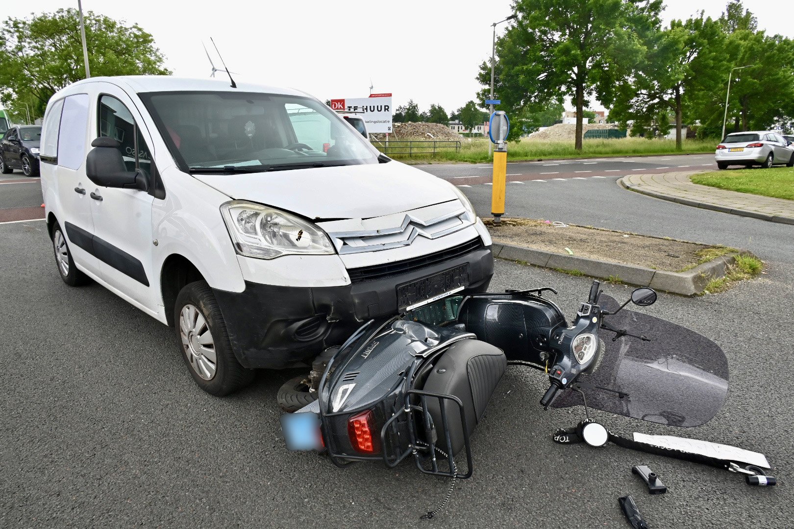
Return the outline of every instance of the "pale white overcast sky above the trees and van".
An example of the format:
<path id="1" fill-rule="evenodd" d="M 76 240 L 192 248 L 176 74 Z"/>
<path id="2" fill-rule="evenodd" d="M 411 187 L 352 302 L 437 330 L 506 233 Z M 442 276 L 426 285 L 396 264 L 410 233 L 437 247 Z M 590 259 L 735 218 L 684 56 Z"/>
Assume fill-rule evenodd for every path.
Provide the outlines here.
<path id="1" fill-rule="evenodd" d="M 2 2 L 0 17 L 28 17 L 77 0 Z M 293 86 L 321 99 L 391 92 L 447 112 L 473 99 L 478 66 L 491 54 L 491 23 L 511 13 L 511 0 L 300 0 L 172 2 L 83 0 L 83 10 L 136 22 L 152 33 L 174 75 L 208 77 L 202 39 L 209 37 L 237 79 Z M 794 2 L 744 2 L 767 33 L 794 37 Z M 697 10 L 719 17 L 727 0 L 665 0 L 665 22 Z M 503 30 L 499 25 L 498 30 Z M 214 55 L 214 53 L 213 53 Z M 220 61 L 213 58 L 216 67 Z M 220 75 L 220 74 L 218 74 Z M 597 105 L 595 105 L 597 107 Z"/>

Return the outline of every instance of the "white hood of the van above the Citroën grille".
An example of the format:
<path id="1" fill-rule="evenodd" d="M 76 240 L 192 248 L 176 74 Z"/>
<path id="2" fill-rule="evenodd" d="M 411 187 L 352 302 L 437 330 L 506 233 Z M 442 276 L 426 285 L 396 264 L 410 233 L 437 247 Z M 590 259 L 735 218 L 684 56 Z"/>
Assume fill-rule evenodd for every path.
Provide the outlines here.
<path id="1" fill-rule="evenodd" d="M 310 219 L 381 217 L 457 198 L 449 182 L 403 163 L 242 174 L 193 174 L 235 200 Z"/>

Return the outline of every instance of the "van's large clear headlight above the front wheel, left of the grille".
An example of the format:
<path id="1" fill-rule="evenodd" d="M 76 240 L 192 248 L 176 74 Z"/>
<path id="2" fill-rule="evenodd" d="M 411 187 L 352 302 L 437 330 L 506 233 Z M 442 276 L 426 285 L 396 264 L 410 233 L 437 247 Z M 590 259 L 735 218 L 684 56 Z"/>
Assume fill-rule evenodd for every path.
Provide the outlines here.
<path id="1" fill-rule="evenodd" d="M 221 206 L 223 220 L 240 255 L 275 259 L 281 255 L 336 253 L 318 226 L 295 215 L 245 201 Z"/>

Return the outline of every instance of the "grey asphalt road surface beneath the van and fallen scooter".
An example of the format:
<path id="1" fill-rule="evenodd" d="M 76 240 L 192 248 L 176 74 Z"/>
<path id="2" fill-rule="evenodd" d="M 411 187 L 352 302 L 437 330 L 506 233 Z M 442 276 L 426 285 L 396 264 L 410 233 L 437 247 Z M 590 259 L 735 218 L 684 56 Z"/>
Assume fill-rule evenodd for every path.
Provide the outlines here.
<path id="1" fill-rule="evenodd" d="M 614 180 L 515 184 L 508 212 L 749 247 L 769 270 L 715 296 L 661 293 L 644 309 L 723 347 L 730 390 L 714 420 L 685 430 L 599 420 L 623 434 L 761 451 L 781 486 L 748 487 L 735 474 L 615 446 L 557 445 L 552 432 L 576 424 L 581 409 L 544 412 L 545 381 L 511 367 L 473 438 L 474 476 L 445 512 L 419 520 L 443 499 L 445 481 L 410 466 L 340 470 L 288 452 L 275 397 L 299 371 L 262 371 L 224 399 L 202 393 L 172 329 L 100 286 L 64 285 L 44 222 L 31 221 L 0 225 L 0 527 L 628 527 L 617 503 L 626 493 L 650 527 L 790 527 L 794 228 L 658 201 Z M 0 186 L 0 208 L 8 187 Z M 464 191 L 487 212 L 489 186 Z M 553 286 L 572 315 L 589 282 L 498 261 L 492 286 Z M 669 492 L 649 496 L 630 473 L 637 464 Z"/>

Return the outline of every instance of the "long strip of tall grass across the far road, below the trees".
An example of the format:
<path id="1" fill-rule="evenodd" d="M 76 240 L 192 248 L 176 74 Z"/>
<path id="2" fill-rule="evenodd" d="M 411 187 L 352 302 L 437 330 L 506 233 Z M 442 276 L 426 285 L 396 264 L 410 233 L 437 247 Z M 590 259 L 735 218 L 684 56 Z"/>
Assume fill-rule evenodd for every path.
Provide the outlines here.
<path id="1" fill-rule="evenodd" d="M 488 156 L 488 140 L 464 140 L 461 142 L 461 151 L 454 148 L 440 148 L 433 154 L 432 148 L 417 147 L 414 144 L 414 155 L 391 155 L 389 151 L 407 151 L 407 141 L 389 141 L 386 154 L 403 162 L 469 162 L 483 163 L 491 161 Z M 445 143 L 449 145 L 450 143 Z M 716 147 L 715 140 L 684 140 L 683 150 L 676 151 L 674 140 L 646 140 L 645 138 L 621 138 L 615 140 L 584 140 L 581 151 L 573 148 L 573 140 L 567 141 L 536 141 L 522 140 L 518 143 L 507 144 L 507 159 L 538 160 L 538 159 L 565 159 L 592 156 L 625 156 L 625 155 L 666 155 L 666 154 L 696 154 L 713 152 Z M 397 148 L 397 149 L 392 149 Z"/>

